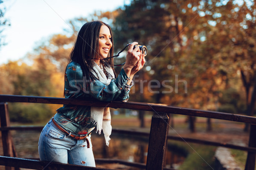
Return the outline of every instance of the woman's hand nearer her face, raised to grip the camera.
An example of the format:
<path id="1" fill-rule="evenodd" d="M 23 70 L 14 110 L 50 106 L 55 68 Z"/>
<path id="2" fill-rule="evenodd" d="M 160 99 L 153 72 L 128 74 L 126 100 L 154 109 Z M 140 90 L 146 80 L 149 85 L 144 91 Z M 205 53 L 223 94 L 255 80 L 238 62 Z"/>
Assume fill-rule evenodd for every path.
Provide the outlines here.
<path id="1" fill-rule="evenodd" d="M 140 47 L 135 47 L 137 45 L 137 42 L 131 43 L 131 45 L 128 47 L 128 52 L 126 54 L 126 61 L 123 69 L 125 70 L 128 77 L 130 77 L 131 70 L 134 68 L 134 66 L 137 65 L 138 61 L 140 60 Z"/>

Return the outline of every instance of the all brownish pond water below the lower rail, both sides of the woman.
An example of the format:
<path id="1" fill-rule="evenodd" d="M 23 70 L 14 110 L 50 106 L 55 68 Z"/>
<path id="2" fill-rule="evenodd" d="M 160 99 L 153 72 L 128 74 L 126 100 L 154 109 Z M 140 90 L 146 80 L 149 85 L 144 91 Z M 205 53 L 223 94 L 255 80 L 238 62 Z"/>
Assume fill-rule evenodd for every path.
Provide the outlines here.
<path id="1" fill-rule="evenodd" d="M 38 138 L 40 132 L 12 131 L 17 156 L 20 158 L 39 158 Z M 105 144 L 103 135 L 92 134 L 93 153 L 95 158 L 115 158 L 125 161 L 146 163 L 148 138 L 112 134 L 109 147 Z M 166 166 L 181 164 L 187 156 L 186 150 L 168 142 Z"/>

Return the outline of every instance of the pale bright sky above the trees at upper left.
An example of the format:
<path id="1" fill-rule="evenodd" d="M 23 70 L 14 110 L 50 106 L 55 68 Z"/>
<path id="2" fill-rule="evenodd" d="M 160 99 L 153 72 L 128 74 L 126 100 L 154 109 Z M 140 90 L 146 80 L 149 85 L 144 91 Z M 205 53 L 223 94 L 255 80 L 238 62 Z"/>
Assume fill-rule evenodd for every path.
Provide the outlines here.
<path id="1" fill-rule="evenodd" d="M 11 26 L 2 35 L 7 45 L 0 47 L 0 65 L 22 59 L 42 40 L 64 34 L 68 20 L 87 17 L 95 11 L 113 11 L 130 0 L 4 0 L 5 18 Z"/>

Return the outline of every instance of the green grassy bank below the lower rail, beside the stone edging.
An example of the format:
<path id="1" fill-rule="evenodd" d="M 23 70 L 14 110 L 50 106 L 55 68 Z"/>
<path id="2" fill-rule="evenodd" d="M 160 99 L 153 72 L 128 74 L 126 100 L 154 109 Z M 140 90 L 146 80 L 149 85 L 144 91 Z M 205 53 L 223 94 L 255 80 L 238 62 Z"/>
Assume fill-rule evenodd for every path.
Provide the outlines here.
<path id="1" fill-rule="evenodd" d="M 179 169 L 212 170 L 215 164 L 214 154 L 215 147 L 201 146 L 189 154 Z"/>

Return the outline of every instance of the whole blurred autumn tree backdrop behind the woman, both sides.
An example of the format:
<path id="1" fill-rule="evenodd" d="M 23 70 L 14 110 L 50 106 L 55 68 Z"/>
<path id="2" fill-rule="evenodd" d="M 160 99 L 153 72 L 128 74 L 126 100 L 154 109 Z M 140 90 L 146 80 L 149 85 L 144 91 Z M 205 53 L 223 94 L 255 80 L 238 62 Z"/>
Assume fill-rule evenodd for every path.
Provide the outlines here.
<path id="1" fill-rule="evenodd" d="M 129 101 L 255 114 L 253 0 L 131 0 L 111 12 L 74 18 L 69 21 L 73 31 L 41 42 L 26 56 L 29 63 L 19 60 L 0 65 L 0 94 L 63 97 L 70 51 L 81 26 L 91 20 L 111 26 L 116 53 L 133 41 L 148 48 L 145 66 L 134 77 Z M 1 22 L 0 28 L 5 24 Z M 125 52 L 121 54 L 115 64 L 125 61 Z M 117 66 L 116 72 L 121 68 Z M 45 120 L 57 108 L 50 104 L 9 104 L 11 121 L 20 122 Z M 190 124 L 194 121 L 189 118 Z"/>

